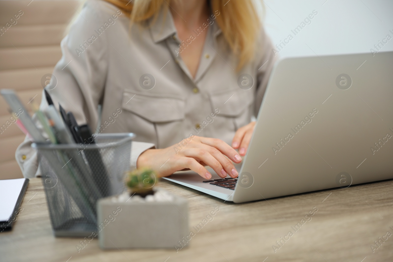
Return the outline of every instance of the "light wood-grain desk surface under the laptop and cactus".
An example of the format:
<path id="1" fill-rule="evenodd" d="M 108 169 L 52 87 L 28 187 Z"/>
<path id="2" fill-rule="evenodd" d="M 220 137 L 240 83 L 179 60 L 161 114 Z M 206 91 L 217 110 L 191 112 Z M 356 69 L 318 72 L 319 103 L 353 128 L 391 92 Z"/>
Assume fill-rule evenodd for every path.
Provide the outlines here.
<path id="1" fill-rule="evenodd" d="M 220 211 L 176 253 L 169 249 L 101 251 L 93 240 L 55 238 L 40 179 L 30 180 L 14 229 L 0 233 L 0 261 L 392 261 L 393 180 L 244 204 L 228 203 L 167 181 L 159 187 L 189 201 L 190 228 L 215 207 Z M 298 231 L 292 229 L 316 207 Z M 310 218 L 308 218 L 310 219 Z M 391 228 L 392 227 L 392 228 Z M 293 236 L 286 236 L 292 231 Z M 284 243 L 283 238 L 289 238 Z M 132 236 L 130 236 L 132 237 Z M 386 237 L 385 237 L 386 238 Z M 274 252 L 276 241 L 284 243 Z"/>

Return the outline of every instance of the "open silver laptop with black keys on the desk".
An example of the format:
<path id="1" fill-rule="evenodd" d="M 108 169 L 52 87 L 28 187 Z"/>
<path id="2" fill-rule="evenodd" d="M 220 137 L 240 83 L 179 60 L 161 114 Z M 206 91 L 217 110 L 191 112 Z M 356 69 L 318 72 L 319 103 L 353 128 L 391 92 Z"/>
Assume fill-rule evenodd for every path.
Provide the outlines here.
<path id="1" fill-rule="evenodd" d="M 393 178 L 393 51 L 276 62 L 237 179 L 164 179 L 235 203 Z"/>

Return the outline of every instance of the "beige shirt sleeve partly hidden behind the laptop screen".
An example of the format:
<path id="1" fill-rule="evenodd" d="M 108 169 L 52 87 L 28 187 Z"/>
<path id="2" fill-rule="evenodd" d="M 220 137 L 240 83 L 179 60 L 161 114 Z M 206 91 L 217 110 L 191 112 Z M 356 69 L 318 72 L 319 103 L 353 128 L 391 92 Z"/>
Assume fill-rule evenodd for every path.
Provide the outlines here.
<path id="1" fill-rule="evenodd" d="M 259 108 L 261 107 L 263 95 L 266 91 L 270 74 L 272 73 L 273 66 L 278 60 L 278 55 L 273 52 L 273 44 L 265 31 L 262 30 L 261 41 L 259 42 L 260 48 L 257 48 L 257 92 L 255 97 L 254 114 L 258 115 Z"/>

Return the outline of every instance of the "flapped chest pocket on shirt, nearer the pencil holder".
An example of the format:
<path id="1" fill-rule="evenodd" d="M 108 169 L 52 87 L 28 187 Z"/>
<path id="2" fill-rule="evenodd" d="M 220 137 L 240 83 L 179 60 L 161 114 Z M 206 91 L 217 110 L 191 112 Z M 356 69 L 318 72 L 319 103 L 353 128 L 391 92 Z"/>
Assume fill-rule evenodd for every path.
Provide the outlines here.
<path id="1" fill-rule="evenodd" d="M 185 100 L 176 95 L 123 92 L 121 107 L 127 112 L 125 122 L 136 134 L 136 141 L 169 147 L 184 138 Z"/>

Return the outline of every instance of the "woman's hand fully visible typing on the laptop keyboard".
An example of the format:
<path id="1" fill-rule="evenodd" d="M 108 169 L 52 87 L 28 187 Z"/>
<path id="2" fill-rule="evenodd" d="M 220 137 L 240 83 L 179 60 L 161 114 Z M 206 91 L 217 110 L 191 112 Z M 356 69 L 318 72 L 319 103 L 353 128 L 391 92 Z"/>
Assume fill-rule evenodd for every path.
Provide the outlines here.
<path id="1" fill-rule="evenodd" d="M 229 159 L 228 159 L 228 158 Z M 158 176 L 169 176 L 178 170 L 191 169 L 206 179 L 211 174 L 208 165 L 222 178 L 228 173 L 232 178 L 238 173 L 231 162 L 241 162 L 236 150 L 220 139 L 190 136 L 179 144 L 162 149 L 148 149 L 138 160 L 137 167 L 150 167 Z"/>

